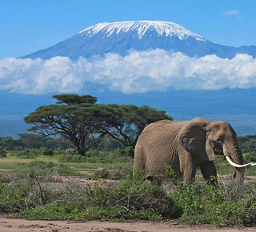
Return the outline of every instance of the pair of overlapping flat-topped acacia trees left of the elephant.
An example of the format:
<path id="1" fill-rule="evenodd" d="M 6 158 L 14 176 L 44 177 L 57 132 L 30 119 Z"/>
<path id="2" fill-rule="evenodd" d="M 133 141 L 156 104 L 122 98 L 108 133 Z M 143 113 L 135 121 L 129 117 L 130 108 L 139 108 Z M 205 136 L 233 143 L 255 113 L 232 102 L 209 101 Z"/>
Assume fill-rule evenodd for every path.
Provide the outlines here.
<path id="1" fill-rule="evenodd" d="M 29 130 L 60 135 L 85 155 L 96 142 L 110 136 L 123 146 L 135 146 L 142 130 L 151 122 L 172 118 L 164 110 L 149 106 L 96 104 L 97 98 L 77 94 L 54 95 L 56 104 L 40 106 L 24 118 L 34 124 Z"/>

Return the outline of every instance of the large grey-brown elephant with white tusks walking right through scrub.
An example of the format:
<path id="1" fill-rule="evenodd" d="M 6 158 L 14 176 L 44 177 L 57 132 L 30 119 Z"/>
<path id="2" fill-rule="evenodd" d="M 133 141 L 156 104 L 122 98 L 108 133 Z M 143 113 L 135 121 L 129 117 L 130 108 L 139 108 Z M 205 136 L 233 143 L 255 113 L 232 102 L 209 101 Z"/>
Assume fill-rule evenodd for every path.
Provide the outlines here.
<path id="1" fill-rule="evenodd" d="M 161 185 L 165 165 L 183 178 L 183 184 L 194 182 L 198 166 L 206 182 L 217 182 L 214 154 L 222 154 L 234 166 L 233 180 L 244 181 L 245 166 L 237 136 L 228 122 L 210 122 L 205 118 L 173 122 L 161 120 L 146 126 L 134 149 L 134 170 Z"/>

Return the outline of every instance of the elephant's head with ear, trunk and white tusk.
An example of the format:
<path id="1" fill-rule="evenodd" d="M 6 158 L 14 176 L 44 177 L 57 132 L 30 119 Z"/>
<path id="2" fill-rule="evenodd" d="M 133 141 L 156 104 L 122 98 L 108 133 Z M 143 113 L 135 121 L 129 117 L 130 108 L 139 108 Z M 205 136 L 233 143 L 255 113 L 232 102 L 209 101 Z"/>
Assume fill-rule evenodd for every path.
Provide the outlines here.
<path id="1" fill-rule="evenodd" d="M 238 146 L 237 136 L 228 122 L 210 122 L 205 118 L 194 118 L 182 127 L 179 143 L 187 151 L 197 154 L 205 161 L 213 161 L 214 154 L 223 154 L 235 167 L 235 182 L 244 180 L 244 161 Z"/>

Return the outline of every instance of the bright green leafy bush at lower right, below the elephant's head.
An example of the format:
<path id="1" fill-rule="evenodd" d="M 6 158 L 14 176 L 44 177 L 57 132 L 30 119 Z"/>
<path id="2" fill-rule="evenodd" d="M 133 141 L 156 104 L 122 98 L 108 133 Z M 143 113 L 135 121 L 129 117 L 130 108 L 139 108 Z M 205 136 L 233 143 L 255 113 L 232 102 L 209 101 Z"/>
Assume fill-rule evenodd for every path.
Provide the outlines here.
<path id="1" fill-rule="evenodd" d="M 250 226 L 256 223 L 255 186 L 193 183 L 174 190 L 170 197 L 182 208 L 182 222 Z"/>

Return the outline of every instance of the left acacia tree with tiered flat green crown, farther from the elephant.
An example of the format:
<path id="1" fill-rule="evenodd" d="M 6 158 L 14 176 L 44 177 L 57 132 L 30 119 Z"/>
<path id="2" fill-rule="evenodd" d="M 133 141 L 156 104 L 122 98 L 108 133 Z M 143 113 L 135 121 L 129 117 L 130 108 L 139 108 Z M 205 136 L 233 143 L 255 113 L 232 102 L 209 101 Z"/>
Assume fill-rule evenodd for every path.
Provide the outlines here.
<path id="1" fill-rule="evenodd" d="M 105 132 L 98 121 L 97 98 L 77 94 L 54 95 L 58 102 L 50 106 L 38 107 L 24 118 L 34 124 L 29 130 L 43 135 L 61 135 L 70 141 L 79 154 L 85 155 Z M 97 108 L 97 109 L 95 109 Z"/>

